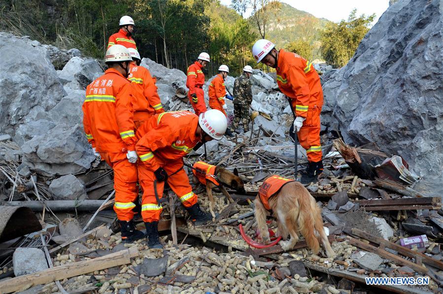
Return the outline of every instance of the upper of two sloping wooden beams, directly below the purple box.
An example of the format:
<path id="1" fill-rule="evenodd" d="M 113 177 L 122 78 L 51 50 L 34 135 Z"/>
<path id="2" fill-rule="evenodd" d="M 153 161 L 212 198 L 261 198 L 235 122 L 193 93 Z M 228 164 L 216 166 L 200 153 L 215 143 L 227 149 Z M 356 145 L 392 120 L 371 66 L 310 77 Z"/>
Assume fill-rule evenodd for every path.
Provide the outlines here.
<path id="1" fill-rule="evenodd" d="M 401 245 L 389 242 L 383 238 L 371 235 L 365 231 L 362 231 L 360 229 L 357 228 L 353 228 L 352 229 L 352 233 L 356 236 L 359 236 L 361 238 L 364 238 L 368 241 L 374 242 L 378 245 L 380 245 L 380 248 L 390 248 L 392 250 L 397 251 L 398 253 L 400 253 L 401 255 L 407 256 L 407 257 L 411 257 L 411 258 L 415 258 L 415 262 L 419 264 L 419 260 L 421 260 L 423 263 L 429 264 L 431 266 L 437 267 L 439 269 L 443 269 L 443 262 L 431 257 L 428 257 L 424 254 L 415 252 L 410 250 L 409 248 L 403 247 Z"/>

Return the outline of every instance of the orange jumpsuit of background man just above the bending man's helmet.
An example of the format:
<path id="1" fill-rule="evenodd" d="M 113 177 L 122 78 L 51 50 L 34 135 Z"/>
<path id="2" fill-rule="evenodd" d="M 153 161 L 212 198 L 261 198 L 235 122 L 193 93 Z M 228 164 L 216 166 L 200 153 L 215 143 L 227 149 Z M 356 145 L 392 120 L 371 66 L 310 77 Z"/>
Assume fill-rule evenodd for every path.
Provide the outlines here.
<path id="1" fill-rule="evenodd" d="M 186 79 L 186 87 L 188 87 L 188 98 L 189 103 L 191 103 L 195 114 L 200 115 L 200 113 L 206 111 L 206 104 L 204 103 L 204 73 L 202 72 L 202 65 L 200 62 L 196 61 L 188 67 L 188 78 Z M 192 102 L 192 94 L 197 94 L 198 102 Z"/>

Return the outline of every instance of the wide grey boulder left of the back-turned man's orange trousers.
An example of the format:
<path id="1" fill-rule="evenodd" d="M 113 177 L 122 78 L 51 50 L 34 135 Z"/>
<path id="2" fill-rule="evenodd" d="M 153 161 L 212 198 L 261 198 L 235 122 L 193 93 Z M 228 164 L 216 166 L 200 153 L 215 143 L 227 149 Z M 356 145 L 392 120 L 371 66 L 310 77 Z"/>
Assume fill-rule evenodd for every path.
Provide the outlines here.
<path id="1" fill-rule="evenodd" d="M 82 128 L 61 123 L 22 146 L 23 163 L 47 177 L 76 174 L 95 160 Z"/>

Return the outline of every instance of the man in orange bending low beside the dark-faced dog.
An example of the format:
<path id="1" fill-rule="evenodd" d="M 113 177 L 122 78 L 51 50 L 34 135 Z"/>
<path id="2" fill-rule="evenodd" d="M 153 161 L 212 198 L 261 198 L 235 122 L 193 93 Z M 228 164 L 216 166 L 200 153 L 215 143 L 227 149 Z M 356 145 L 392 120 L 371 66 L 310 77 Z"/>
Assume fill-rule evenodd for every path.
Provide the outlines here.
<path id="1" fill-rule="evenodd" d="M 138 179 L 143 188 L 141 216 L 149 248 L 163 248 L 158 221 L 165 182 L 177 194 L 196 225 L 212 219 L 197 203 L 197 195 L 192 192 L 188 175 L 183 170 L 183 156 L 199 142 L 221 140 L 227 126 L 226 116 L 219 110 L 207 110 L 199 116 L 190 111 L 171 111 L 152 116 L 138 129 Z"/>

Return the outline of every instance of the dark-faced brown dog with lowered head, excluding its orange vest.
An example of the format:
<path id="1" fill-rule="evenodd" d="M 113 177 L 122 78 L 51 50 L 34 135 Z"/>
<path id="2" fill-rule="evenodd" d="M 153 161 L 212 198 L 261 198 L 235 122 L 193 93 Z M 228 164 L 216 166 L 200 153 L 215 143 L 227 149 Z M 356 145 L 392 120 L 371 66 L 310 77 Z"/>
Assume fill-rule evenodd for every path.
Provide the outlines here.
<path id="1" fill-rule="evenodd" d="M 195 171 L 195 169 L 193 171 Z M 197 173 L 198 173 L 198 171 L 197 171 Z M 215 179 L 219 183 L 219 185 L 216 185 L 207 179 L 205 180 L 204 185 L 206 186 L 206 193 L 207 193 L 207 196 L 210 201 L 209 202 L 209 211 L 210 211 L 212 217 L 215 218 L 215 214 L 213 211 L 213 208 L 215 207 L 215 200 L 214 200 L 214 196 L 212 195 L 212 189 L 215 187 L 219 187 L 221 192 L 223 193 L 223 195 L 225 195 L 225 197 L 231 203 L 234 203 L 234 199 L 232 199 L 231 195 L 226 190 L 224 184 L 237 190 L 237 191 L 244 192 L 244 183 L 239 177 L 239 171 L 237 170 L 237 168 L 234 169 L 234 172 L 231 172 L 224 167 L 216 166 L 213 176 L 215 176 Z M 194 184 L 201 183 L 199 181 L 199 179 L 196 177 L 195 172 L 194 172 L 194 176 L 193 176 L 193 182 L 194 182 Z"/>

